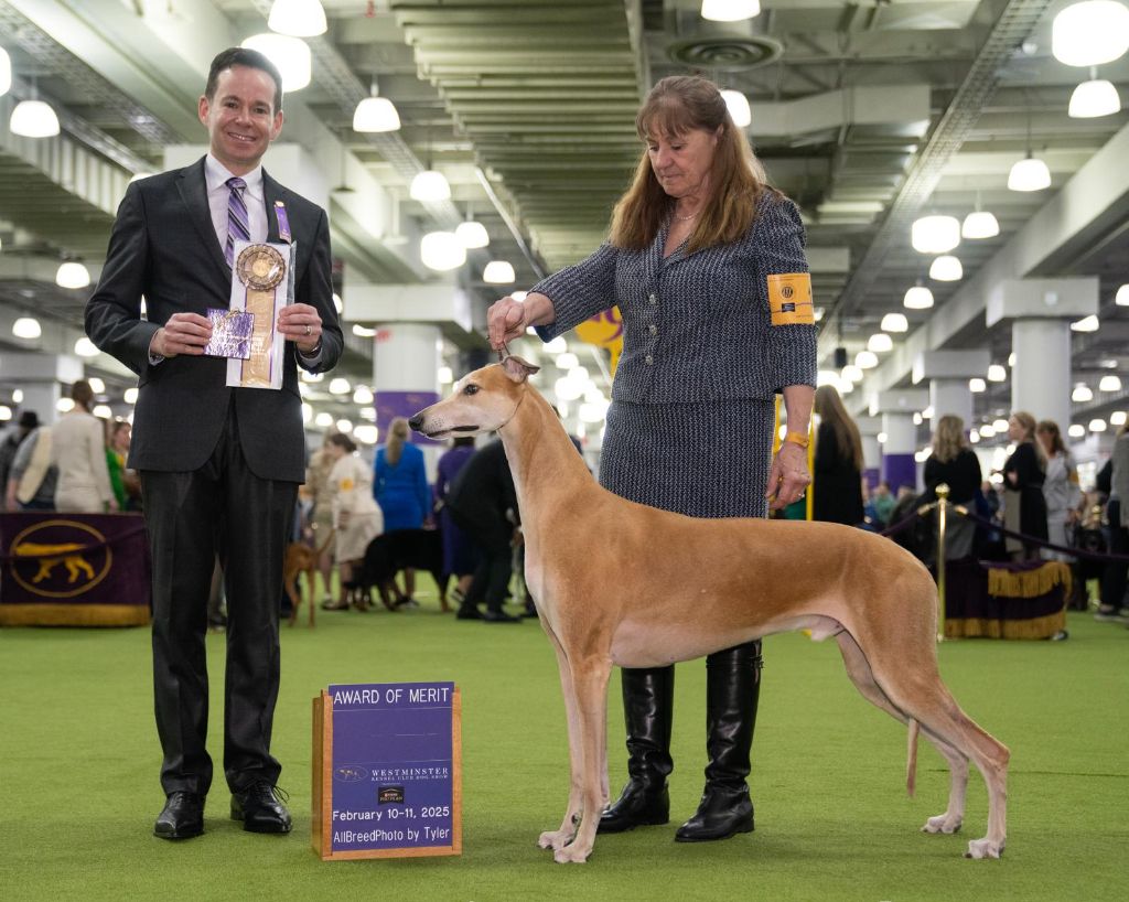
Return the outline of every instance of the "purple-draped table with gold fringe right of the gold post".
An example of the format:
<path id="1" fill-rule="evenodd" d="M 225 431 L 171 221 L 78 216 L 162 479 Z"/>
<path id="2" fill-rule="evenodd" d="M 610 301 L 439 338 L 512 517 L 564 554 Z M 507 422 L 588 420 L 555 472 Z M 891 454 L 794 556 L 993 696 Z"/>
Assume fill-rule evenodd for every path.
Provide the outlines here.
<path id="1" fill-rule="evenodd" d="M 945 638 L 1049 639 L 1066 629 L 1070 567 L 964 558 L 945 571 Z"/>

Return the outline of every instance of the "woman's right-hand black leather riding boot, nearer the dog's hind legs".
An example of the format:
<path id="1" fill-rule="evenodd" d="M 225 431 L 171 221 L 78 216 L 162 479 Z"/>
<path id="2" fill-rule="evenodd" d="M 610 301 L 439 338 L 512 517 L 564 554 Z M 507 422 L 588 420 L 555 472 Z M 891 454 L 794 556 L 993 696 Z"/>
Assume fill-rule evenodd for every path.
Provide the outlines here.
<path id="1" fill-rule="evenodd" d="M 721 840 L 753 829 L 749 752 L 761 692 L 760 639 L 706 658 L 706 790 L 698 812 L 679 827 L 679 842 Z"/>

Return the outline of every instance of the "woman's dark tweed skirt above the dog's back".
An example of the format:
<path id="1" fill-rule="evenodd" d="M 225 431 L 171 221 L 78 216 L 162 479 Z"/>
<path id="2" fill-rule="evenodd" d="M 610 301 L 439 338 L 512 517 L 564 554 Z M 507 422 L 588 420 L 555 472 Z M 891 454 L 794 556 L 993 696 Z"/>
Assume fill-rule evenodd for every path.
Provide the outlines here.
<path id="1" fill-rule="evenodd" d="M 774 427 L 773 401 L 613 401 L 599 483 L 690 517 L 764 517 Z"/>

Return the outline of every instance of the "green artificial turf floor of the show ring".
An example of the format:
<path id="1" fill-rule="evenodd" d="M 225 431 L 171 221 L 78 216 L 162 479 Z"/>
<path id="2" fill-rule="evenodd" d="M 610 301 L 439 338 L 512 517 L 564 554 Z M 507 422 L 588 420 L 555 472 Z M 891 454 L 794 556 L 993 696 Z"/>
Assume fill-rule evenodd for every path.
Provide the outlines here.
<path id="1" fill-rule="evenodd" d="M 904 791 L 905 730 L 857 694 L 834 642 L 765 642 L 753 747 L 756 832 L 681 844 L 704 765 L 704 667 L 679 666 L 672 823 L 599 837 L 584 866 L 536 848 L 568 791 L 557 666 L 536 622 L 488 625 L 418 611 L 318 612 L 283 627 L 274 723 L 289 837 L 227 820 L 221 778 L 205 834 L 150 831 L 163 798 L 147 629 L 0 630 L 0 899 L 15 900 L 1062 900 L 1129 897 L 1129 630 L 1070 615 L 1066 642 L 968 640 L 940 647 L 964 709 L 1012 748 L 1008 847 L 982 835 L 973 772 L 964 831 L 918 832 L 944 809 L 947 773 L 922 742 Z M 305 613 L 305 611 L 303 612 Z M 221 747 L 224 637 L 209 637 L 210 747 Z M 330 683 L 454 680 L 463 693 L 461 857 L 321 861 L 309 844 L 310 699 Z M 609 743 L 624 779 L 619 678 Z M 217 767 L 217 771 L 220 769 Z"/>

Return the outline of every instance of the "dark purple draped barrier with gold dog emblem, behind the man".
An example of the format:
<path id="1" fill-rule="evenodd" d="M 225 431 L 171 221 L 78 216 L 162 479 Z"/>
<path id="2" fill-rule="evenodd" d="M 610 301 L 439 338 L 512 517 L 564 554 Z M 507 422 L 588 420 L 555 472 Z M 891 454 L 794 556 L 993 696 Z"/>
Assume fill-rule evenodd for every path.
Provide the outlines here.
<path id="1" fill-rule="evenodd" d="M 0 514 L 0 627 L 149 622 L 140 514 Z"/>

